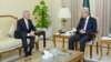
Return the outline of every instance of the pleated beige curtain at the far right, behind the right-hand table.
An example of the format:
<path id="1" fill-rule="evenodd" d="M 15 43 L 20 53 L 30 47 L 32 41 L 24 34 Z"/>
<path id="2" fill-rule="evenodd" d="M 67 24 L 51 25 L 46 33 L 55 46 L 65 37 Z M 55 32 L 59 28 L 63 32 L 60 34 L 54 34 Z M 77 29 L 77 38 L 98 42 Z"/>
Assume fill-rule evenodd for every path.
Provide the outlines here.
<path id="1" fill-rule="evenodd" d="M 97 17 L 100 37 L 108 35 L 111 28 L 111 0 L 97 1 Z"/>

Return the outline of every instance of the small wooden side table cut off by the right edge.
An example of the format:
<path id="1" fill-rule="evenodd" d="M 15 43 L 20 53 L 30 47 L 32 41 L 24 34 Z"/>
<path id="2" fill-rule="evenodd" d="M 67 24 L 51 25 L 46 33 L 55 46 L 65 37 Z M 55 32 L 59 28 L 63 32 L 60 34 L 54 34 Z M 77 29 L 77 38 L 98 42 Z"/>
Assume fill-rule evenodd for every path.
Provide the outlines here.
<path id="1" fill-rule="evenodd" d="M 111 44 L 111 40 L 100 39 L 100 59 L 102 59 L 102 45 L 108 44 L 108 53 L 109 54 L 109 46 Z"/>

